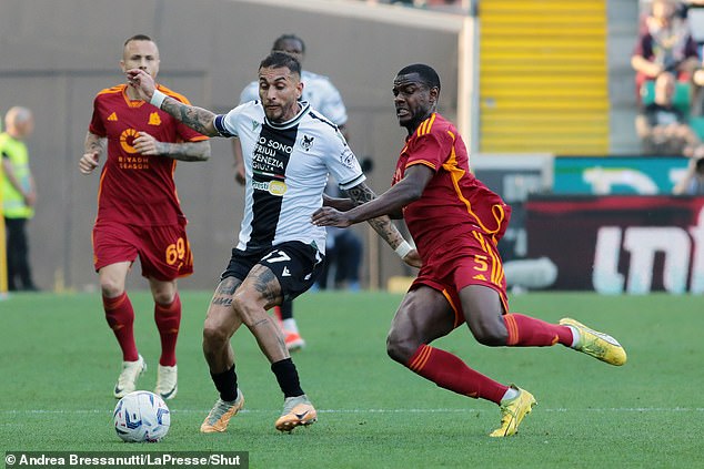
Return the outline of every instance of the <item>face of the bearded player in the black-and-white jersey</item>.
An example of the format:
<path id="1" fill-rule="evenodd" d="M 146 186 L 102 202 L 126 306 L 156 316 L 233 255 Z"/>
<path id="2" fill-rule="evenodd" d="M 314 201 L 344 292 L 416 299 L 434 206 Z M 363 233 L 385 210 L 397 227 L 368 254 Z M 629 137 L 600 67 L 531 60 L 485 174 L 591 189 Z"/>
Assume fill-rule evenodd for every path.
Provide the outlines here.
<path id="1" fill-rule="evenodd" d="M 301 79 L 285 67 L 259 69 L 259 98 L 271 122 L 285 122 L 299 112 Z"/>

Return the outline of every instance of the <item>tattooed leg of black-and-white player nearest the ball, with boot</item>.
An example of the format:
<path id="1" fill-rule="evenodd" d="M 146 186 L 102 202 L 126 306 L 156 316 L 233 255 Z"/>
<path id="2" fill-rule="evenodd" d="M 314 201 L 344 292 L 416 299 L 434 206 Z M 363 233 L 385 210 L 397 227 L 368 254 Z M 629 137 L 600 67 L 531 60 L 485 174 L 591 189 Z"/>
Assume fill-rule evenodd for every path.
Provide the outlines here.
<path id="1" fill-rule="evenodd" d="M 242 325 L 232 307 L 232 297 L 241 283 L 231 276 L 220 282 L 203 325 L 203 355 L 220 395 L 201 425 L 204 434 L 225 431 L 230 419 L 244 406 L 244 396 L 239 389 L 234 371 L 234 350 L 230 344 L 230 338 Z"/>

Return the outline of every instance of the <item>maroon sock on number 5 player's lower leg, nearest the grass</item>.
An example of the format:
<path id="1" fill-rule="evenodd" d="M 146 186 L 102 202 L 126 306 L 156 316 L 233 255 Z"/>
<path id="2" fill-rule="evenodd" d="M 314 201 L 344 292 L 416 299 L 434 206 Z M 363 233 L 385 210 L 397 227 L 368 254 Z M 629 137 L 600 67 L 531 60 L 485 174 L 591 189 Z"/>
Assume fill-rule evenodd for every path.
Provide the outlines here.
<path id="1" fill-rule="evenodd" d="M 456 356 L 422 344 L 409 360 L 408 367 L 441 388 L 500 404 L 507 386 L 473 370 Z"/>

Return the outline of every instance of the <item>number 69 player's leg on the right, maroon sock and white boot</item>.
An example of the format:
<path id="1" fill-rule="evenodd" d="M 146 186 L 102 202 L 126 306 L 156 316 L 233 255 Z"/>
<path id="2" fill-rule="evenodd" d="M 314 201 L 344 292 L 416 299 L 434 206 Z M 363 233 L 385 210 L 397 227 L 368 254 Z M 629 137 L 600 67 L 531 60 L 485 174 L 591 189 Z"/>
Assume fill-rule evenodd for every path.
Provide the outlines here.
<path id="1" fill-rule="evenodd" d="M 151 277 L 149 287 L 154 299 L 154 323 L 161 340 L 154 392 L 163 399 L 173 399 L 179 389 L 175 347 L 181 328 L 181 298 L 175 281 Z"/>

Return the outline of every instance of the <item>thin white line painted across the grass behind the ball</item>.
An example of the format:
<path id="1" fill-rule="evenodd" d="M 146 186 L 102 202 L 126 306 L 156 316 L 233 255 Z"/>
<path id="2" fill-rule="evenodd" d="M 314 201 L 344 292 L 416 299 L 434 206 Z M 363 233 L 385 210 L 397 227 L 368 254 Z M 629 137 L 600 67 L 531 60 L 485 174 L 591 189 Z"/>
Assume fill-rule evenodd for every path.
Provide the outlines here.
<path id="1" fill-rule="evenodd" d="M 318 414 L 475 414 L 493 412 L 495 409 L 318 409 Z M 704 407 L 611 407 L 611 408 L 539 408 L 541 412 L 704 412 Z M 173 414 L 203 414 L 208 409 L 173 409 Z M 242 409 L 242 414 L 272 414 L 276 409 Z M 112 414 L 108 409 L 27 409 L 0 410 L 0 415 L 42 414 Z"/>

